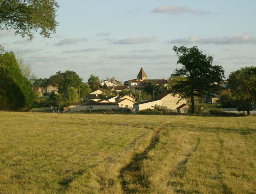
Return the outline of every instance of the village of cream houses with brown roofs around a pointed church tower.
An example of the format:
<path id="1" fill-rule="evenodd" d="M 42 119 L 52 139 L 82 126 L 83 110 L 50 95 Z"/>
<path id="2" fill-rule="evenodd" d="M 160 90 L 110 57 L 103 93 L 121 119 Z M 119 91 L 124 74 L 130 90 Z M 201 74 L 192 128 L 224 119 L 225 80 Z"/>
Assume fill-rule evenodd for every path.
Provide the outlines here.
<path id="1" fill-rule="evenodd" d="M 162 86 L 164 88 L 161 93 L 158 93 L 153 98 L 145 101 L 136 101 L 136 98 L 131 90 L 137 90 L 143 92 L 148 83 L 151 82 L 155 86 Z M 89 84 L 88 82 L 86 84 Z M 80 102 L 70 102 L 68 106 L 63 107 L 63 112 L 76 113 L 83 111 L 112 111 L 112 110 L 124 110 L 127 112 L 139 112 L 146 109 L 154 109 L 161 107 L 166 112 L 187 113 L 189 107 L 189 100 L 182 98 L 179 94 L 173 95 L 168 90 L 170 83 L 166 79 L 148 79 L 148 76 L 144 69 L 141 67 L 137 78 L 129 79 L 127 81 L 118 81 L 115 77 L 101 79 L 99 88 L 88 93 L 85 96 L 79 97 Z M 227 82 L 223 82 L 221 93 L 228 93 L 226 89 Z M 58 88 L 52 85 L 45 87 L 34 87 L 33 90 L 38 91 L 39 96 L 50 96 L 52 93 L 58 94 Z M 108 93 L 109 95 L 106 95 Z M 120 93 L 123 93 L 123 95 Z M 105 95 L 103 95 L 105 94 Z M 213 93 L 211 97 L 205 96 L 203 101 L 205 103 L 216 104 L 220 99 L 220 95 Z M 48 107 L 48 111 L 54 112 L 54 107 Z M 103 111 L 103 112 L 104 112 Z"/>

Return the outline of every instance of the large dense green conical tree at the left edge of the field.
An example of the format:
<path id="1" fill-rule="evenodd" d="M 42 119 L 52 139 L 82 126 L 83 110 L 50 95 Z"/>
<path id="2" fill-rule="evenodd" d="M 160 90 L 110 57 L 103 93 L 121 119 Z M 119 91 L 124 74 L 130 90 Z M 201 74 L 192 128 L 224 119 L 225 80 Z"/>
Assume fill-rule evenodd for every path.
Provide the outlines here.
<path id="1" fill-rule="evenodd" d="M 28 110 L 32 106 L 31 84 L 22 75 L 15 55 L 0 54 L 0 109 Z"/>

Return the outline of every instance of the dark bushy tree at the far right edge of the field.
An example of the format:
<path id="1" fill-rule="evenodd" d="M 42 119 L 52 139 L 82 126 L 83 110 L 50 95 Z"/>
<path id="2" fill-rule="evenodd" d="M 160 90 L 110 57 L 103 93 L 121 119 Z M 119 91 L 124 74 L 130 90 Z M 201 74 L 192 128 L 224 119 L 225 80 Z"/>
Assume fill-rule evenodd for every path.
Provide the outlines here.
<path id="1" fill-rule="evenodd" d="M 244 67 L 231 72 L 228 85 L 232 96 L 236 98 L 238 111 L 247 111 L 250 115 L 253 103 L 256 102 L 256 67 Z"/>

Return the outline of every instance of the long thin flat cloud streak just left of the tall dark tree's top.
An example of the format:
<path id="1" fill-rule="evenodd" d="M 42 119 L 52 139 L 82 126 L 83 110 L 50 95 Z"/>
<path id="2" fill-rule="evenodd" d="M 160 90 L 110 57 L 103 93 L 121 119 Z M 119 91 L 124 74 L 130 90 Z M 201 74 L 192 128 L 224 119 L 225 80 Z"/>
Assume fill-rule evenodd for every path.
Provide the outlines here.
<path id="1" fill-rule="evenodd" d="M 107 59 L 162 59 L 172 58 L 174 55 L 101 55 L 100 58 Z"/>

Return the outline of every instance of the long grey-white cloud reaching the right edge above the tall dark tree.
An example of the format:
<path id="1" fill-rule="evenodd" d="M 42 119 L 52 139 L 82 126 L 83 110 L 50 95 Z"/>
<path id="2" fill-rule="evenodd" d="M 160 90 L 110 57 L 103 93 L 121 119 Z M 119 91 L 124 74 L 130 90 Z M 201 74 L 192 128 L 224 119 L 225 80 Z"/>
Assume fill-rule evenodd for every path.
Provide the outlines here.
<path id="1" fill-rule="evenodd" d="M 256 36 L 249 36 L 248 34 L 236 34 L 232 36 L 201 38 L 201 37 L 186 37 L 181 39 L 174 39 L 169 41 L 170 44 L 256 44 Z"/>

